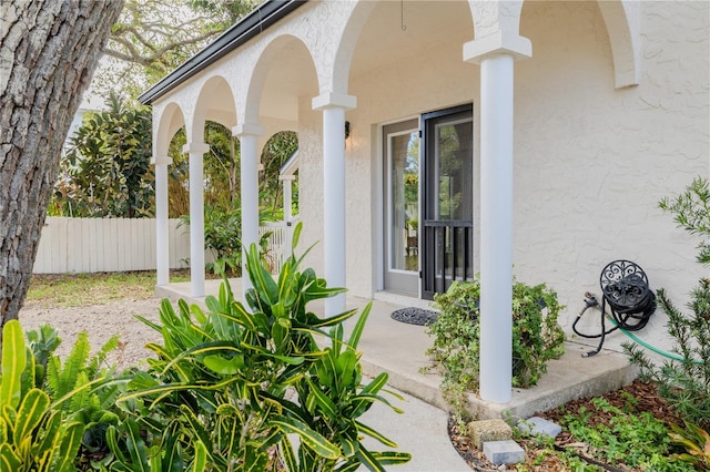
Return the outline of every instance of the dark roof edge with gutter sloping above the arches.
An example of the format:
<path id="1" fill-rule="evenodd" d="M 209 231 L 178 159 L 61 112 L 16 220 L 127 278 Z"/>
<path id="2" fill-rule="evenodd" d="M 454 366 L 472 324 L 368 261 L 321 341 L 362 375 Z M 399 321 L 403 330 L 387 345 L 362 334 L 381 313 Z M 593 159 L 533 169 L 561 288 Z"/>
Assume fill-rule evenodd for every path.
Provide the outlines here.
<path id="1" fill-rule="evenodd" d="M 141 93 L 138 100 L 144 105 L 152 105 L 155 100 L 256 37 L 292 11 L 305 4 L 306 1 L 307 0 L 265 1 L 237 23 L 230 27 L 195 55 L 187 59 L 145 92 Z"/>

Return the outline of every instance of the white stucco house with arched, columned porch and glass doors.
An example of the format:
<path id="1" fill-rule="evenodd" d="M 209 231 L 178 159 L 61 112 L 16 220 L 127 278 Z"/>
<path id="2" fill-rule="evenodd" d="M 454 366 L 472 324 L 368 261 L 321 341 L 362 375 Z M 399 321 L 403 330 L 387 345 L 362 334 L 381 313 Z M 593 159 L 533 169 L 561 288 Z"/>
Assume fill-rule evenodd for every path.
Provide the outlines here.
<path id="1" fill-rule="evenodd" d="M 303 240 L 322 242 L 308 264 L 365 298 L 426 299 L 479 273 L 480 396 L 506 402 L 514 271 L 557 290 L 567 328 L 611 260 L 679 300 L 707 275 L 658 201 L 710 174 L 709 31 L 707 1 L 266 1 L 141 96 L 158 284 L 174 133 L 186 129 L 191 175 L 205 120 L 239 136 L 248 243 L 261 148 L 296 131 Z M 195 296 L 201 185 L 191 178 Z M 662 343 L 663 325 L 647 336 Z"/>

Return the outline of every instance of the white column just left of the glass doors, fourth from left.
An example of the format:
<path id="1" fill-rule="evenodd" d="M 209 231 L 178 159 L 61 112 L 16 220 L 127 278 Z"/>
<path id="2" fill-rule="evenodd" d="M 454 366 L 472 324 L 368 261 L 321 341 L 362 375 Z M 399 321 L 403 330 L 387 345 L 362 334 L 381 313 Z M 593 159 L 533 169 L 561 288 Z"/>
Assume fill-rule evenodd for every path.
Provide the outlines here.
<path id="1" fill-rule="evenodd" d="M 345 287 L 345 110 L 354 96 L 325 93 L 313 99 L 323 111 L 323 252 L 329 287 Z M 345 294 L 325 299 L 325 315 L 345 310 Z"/>

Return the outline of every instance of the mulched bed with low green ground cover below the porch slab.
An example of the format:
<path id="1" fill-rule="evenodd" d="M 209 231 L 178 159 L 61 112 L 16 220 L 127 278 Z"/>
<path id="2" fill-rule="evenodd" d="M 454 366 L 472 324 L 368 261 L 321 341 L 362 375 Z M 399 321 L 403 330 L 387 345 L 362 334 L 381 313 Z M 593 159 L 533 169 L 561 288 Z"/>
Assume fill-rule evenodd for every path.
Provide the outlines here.
<path id="1" fill-rule="evenodd" d="M 526 452 L 517 471 L 694 471 L 684 448 L 672 437 L 672 425 L 682 420 L 660 397 L 651 382 L 636 380 L 607 394 L 570 401 L 537 413 L 564 427 L 552 441 L 517 434 Z M 496 470 L 470 439 L 460 433 L 455 420 L 449 433 L 459 454 L 474 470 Z"/>

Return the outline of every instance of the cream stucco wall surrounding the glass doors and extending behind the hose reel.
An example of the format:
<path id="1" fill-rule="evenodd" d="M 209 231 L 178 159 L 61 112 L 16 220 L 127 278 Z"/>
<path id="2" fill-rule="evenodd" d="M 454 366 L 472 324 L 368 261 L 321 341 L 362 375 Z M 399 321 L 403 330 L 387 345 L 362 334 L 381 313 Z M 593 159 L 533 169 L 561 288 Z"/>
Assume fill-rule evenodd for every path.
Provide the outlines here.
<path id="1" fill-rule="evenodd" d="M 596 2 L 528 2 L 520 29 L 534 55 L 516 62 L 515 274 L 559 293 L 567 328 L 618 258 L 637 261 L 653 288 L 682 302 L 707 269 L 693 260 L 697 239 L 657 204 L 709 174 L 708 4 L 643 2 L 641 83 L 620 90 Z M 378 125 L 473 101 L 477 172 L 478 71 L 462 61 L 458 42 L 351 78 L 358 107 L 347 115 L 348 235 L 374 235 L 348 236 L 352 293 L 376 289 Z M 363 254 L 373 254 L 369 264 Z M 597 317 L 589 320 L 594 332 Z M 642 337 L 667 345 L 665 322 L 656 316 Z"/>

